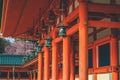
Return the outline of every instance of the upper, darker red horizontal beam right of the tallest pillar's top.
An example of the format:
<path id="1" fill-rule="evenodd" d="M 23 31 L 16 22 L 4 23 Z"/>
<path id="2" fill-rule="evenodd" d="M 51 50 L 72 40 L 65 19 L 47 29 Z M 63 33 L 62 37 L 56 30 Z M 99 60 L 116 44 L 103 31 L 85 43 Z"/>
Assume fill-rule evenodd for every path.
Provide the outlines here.
<path id="1" fill-rule="evenodd" d="M 105 4 L 88 4 L 88 11 L 120 14 L 120 6 Z"/>

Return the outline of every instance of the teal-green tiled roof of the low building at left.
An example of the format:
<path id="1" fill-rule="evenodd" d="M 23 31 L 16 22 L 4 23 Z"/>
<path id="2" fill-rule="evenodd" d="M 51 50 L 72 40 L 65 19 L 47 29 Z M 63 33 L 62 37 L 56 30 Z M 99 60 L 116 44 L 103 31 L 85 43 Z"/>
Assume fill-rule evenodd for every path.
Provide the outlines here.
<path id="1" fill-rule="evenodd" d="M 0 65 L 23 65 L 24 55 L 0 54 Z"/>

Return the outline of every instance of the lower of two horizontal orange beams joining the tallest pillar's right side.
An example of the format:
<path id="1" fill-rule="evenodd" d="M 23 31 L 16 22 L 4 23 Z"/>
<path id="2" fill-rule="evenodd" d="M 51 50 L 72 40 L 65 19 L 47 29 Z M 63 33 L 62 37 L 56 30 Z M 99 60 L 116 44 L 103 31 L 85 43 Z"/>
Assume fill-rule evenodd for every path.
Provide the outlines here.
<path id="1" fill-rule="evenodd" d="M 88 21 L 89 27 L 120 28 L 120 22 Z"/>

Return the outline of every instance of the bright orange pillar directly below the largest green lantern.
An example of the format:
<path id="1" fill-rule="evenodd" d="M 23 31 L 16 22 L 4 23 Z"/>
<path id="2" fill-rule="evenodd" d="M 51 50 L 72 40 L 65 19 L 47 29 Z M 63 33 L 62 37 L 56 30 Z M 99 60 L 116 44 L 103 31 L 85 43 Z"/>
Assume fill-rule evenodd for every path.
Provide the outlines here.
<path id="1" fill-rule="evenodd" d="M 63 38 L 63 80 L 70 80 L 70 70 L 69 70 L 69 45 L 70 38 Z"/>

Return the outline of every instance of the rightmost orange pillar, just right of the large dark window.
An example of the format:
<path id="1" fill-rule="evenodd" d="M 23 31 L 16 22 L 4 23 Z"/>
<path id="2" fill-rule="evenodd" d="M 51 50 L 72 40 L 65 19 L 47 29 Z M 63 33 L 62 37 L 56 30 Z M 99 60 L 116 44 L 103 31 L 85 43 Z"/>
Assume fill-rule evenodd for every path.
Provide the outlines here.
<path id="1" fill-rule="evenodd" d="M 118 48 L 117 48 L 117 39 L 116 37 L 111 38 L 111 66 L 116 68 L 118 67 Z M 117 71 L 117 70 L 116 70 Z M 119 80 L 119 73 L 112 72 L 112 80 Z"/>

